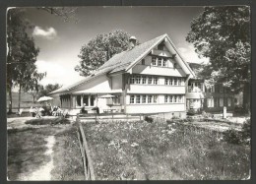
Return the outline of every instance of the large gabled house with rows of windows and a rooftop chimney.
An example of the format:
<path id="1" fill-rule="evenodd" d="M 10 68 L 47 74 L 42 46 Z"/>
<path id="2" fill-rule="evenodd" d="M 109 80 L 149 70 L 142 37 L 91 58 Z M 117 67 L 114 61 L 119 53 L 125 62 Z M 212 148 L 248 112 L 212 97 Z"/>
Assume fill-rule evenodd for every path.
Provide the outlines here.
<path id="1" fill-rule="evenodd" d="M 184 117 L 187 84 L 196 76 L 167 34 L 114 55 L 84 80 L 51 92 L 62 108 Z"/>

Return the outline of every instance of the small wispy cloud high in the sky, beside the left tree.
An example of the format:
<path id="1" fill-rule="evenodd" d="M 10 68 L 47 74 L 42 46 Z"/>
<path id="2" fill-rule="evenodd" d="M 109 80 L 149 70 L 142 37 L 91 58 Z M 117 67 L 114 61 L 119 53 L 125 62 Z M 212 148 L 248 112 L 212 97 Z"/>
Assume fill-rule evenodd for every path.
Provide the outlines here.
<path id="1" fill-rule="evenodd" d="M 43 37 L 46 39 L 53 39 L 57 36 L 57 31 L 53 28 L 47 28 L 43 30 L 40 27 L 35 27 L 32 31 L 33 36 Z"/>

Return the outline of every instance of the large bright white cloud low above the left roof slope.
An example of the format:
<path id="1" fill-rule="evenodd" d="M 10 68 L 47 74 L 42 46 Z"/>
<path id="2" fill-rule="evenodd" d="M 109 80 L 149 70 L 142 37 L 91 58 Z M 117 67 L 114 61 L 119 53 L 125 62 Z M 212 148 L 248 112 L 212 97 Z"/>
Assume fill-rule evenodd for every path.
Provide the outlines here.
<path id="1" fill-rule="evenodd" d="M 60 84 L 70 85 L 83 79 L 74 67 L 68 67 L 56 62 L 38 60 L 36 61 L 38 72 L 46 72 L 47 75 L 39 83 L 41 85 Z"/>

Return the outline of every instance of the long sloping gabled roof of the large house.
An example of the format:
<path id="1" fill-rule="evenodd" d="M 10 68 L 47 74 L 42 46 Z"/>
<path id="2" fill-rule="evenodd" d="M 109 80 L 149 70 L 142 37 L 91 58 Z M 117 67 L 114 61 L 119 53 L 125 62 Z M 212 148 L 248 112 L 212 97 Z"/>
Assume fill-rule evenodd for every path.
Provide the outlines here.
<path id="1" fill-rule="evenodd" d="M 149 41 L 146 41 L 142 44 L 136 45 L 134 48 L 123 51 L 121 53 L 115 54 L 113 57 L 111 57 L 107 62 L 105 62 L 101 67 L 99 67 L 96 72 L 91 75 L 86 77 L 84 80 L 81 80 L 75 84 L 72 84 L 70 86 L 62 87 L 61 89 L 58 89 L 52 93 L 57 93 L 57 92 L 69 92 L 72 89 L 77 88 L 80 85 L 83 85 L 96 77 L 102 75 L 102 74 L 112 74 L 115 72 L 120 72 L 120 71 L 128 71 L 132 66 L 134 66 L 138 61 L 143 59 L 146 55 L 148 55 L 154 47 L 156 47 L 162 40 L 166 40 L 169 42 L 169 45 L 173 47 L 174 51 L 178 54 L 180 57 L 180 54 L 178 53 L 177 49 L 175 48 L 174 44 L 171 42 L 170 38 L 166 33 L 153 38 Z M 180 59 L 183 61 L 184 65 L 187 67 L 187 70 L 194 76 L 193 71 L 190 69 L 186 61 L 182 57 Z"/>

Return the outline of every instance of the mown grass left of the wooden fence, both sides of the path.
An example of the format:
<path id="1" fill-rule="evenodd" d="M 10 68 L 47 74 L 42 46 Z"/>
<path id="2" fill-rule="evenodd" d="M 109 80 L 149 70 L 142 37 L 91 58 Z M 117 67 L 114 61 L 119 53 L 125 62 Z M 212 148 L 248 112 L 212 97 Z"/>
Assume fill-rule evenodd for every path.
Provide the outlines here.
<path id="1" fill-rule="evenodd" d="M 30 175 L 50 160 L 50 156 L 45 154 L 45 139 L 49 136 L 55 138 L 51 180 L 84 179 L 75 126 L 63 118 L 32 119 L 25 123 L 36 128 L 8 130 L 9 180 L 20 180 L 21 176 Z"/>

